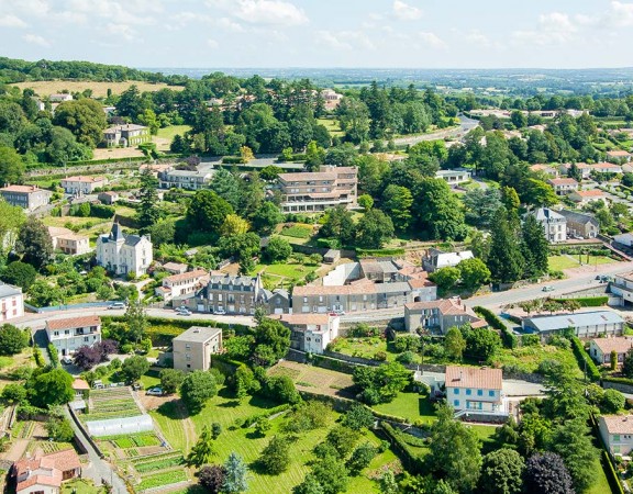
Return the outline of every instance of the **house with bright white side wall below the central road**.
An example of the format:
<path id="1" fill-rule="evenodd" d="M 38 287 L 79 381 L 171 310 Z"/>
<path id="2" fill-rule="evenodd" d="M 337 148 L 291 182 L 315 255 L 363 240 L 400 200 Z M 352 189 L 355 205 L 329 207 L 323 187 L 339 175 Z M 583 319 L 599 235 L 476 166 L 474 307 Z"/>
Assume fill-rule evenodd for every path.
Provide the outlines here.
<path id="1" fill-rule="evenodd" d="M 338 337 L 341 318 L 329 314 L 282 314 L 281 324 L 290 329 L 290 347 L 308 353 L 323 353 Z"/>

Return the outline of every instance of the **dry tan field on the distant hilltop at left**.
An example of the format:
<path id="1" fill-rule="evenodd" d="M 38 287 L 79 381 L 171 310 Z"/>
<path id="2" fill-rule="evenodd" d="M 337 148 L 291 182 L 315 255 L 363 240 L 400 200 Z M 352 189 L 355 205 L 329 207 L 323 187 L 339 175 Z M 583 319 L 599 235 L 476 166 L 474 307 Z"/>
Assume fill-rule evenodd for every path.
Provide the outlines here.
<path id="1" fill-rule="evenodd" d="M 86 89 L 92 90 L 93 98 L 106 98 L 108 96 L 108 89 L 111 89 L 114 94 L 121 94 L 130 86 L 135 85 L 140 91 L 159 91 L 164 88 L 173 89 L 174 91 L 181 91 L 185 89 L 182 86 L 167 86 L 164 82 L 151 83 L 141 81 L 126 81 L 126 82 L 95 82 L 90 80 L 41 80 L 41 81 L 29 81 L 19 82 L 12 86 L 16 86 L 20 89 L 31 88 L 36 94 L 41 97 L 47 97 L 49 94 L 59 93 L 64 90 L 70 92 L 82 92 Z"/>

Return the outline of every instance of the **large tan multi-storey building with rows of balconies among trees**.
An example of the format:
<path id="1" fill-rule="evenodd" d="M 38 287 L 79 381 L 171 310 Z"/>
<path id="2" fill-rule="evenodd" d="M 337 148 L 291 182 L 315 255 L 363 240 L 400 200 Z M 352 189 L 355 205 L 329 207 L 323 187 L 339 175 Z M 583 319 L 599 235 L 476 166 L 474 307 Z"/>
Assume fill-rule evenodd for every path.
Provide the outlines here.
<path id="1" fill-rule="evenodd" d="M 320 171 L 280 173 L 281 211 L 318 212 L 356 206 L 358 173 L 355 167 L 322 166 Z"/>

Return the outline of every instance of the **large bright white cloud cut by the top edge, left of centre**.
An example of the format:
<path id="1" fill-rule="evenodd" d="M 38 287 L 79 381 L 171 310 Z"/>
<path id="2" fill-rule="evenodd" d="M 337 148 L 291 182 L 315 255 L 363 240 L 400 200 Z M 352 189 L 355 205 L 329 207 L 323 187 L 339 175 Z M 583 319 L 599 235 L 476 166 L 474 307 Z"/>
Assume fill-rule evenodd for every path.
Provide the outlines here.
<path id="1" fill-rule="evenodd" d="M 249 24 L 293 26 L 308 23 L 306 12 L 285 0 L 208 0 L 207 4 Z"/>

